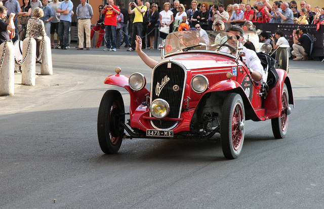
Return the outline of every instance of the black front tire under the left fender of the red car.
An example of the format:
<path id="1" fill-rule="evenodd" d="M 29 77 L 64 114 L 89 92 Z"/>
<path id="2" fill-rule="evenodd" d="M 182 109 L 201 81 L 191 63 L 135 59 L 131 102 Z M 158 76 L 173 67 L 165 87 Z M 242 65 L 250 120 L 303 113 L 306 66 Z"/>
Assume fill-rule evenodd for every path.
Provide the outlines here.
<path id="1" fill-rule="evenodd" d="M 108 90 L 103 95 L 97 121 L 98 140 L 101 150 L 106 154 L 118 152 L 123 142 L 125 123 L 125 107 L 121 94 L 116 90 Z"/>

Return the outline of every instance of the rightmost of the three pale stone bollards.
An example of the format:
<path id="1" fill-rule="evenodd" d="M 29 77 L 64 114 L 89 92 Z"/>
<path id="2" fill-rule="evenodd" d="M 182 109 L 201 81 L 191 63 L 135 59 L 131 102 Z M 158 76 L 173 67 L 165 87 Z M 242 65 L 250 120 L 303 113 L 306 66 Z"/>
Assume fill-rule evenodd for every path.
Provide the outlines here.
<path id="1" fill-rule="evenodd" d="M 51 39 L 47 36 L 44 37 L 41 74 L 53 75 Z"/>

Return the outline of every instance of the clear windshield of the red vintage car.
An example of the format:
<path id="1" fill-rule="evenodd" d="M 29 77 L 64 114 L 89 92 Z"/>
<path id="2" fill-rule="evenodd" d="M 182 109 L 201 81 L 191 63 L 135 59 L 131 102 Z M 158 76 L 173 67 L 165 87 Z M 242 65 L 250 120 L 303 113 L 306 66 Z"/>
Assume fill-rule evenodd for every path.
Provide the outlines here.
<path id="1" fill-rule="evenodd" d="M 237 38 L 221 31 L 190 30 L 170 33 L 165 40 L 164 55 L 188 51 L 212 51 L 237 55 Z"/>

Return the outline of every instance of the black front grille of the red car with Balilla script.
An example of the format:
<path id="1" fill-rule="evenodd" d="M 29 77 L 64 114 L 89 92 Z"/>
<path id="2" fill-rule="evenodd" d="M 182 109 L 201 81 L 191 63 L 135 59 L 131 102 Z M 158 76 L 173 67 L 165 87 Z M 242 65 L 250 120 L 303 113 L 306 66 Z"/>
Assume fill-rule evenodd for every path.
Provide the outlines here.
<path id="1" fill-rule="evenodd" d="M 164 99 L 170 105 L 167 117 L 179 118 L 185 90 L 186 70 L 174 62 L 165 62 L 155 67 L 152 73 L 151 102 Z M 171 129 L 177 121 L 151 120 L 157 129 Z"/>

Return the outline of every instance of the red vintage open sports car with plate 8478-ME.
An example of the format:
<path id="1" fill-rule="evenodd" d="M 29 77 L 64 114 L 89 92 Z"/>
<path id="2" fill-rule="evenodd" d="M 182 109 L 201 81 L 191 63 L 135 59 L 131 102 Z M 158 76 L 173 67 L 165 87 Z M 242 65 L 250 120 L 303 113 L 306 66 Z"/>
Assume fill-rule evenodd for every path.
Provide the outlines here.
<path id="1" fill-rule="evenodd" d="M 294 105 L 287 71 L 275 69 L 273 60 L 263 62 L 267 82 L 255 82 L 252 69 L 241 61 L 242 43 L 233 46 L 229 39 L 236 37 L 217 31 L 169 34 L 163 59 L 152 71 L 151 92 L 143 74 L 128 77 L 116 68 L 104 82 L 129 92 L 130 110 L 125 113 L 118 91 L 103 95 L 97 127 L 102 151 L 116 153 L 124 138 L 210 139 L 220 133 L 224 156 L 234 159 L 242 150 L 245 121 L 250 119 L 271 119 L 274 137 L 284 138 L 289 105 Z"/>

